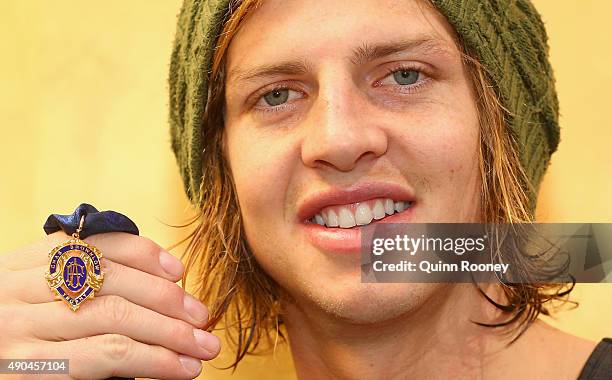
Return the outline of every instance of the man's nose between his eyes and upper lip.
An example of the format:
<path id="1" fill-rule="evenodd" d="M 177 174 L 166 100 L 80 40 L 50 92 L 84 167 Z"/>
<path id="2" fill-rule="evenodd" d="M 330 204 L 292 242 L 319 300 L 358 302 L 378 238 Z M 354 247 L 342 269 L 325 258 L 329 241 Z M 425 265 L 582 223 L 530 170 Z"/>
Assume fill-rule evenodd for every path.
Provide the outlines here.
<path id="1" fill-rule="evenodd" d="M 387 151 L 378 115 L 350 76 L 322 80 L 309 113 L 301 151 L 306 166 L 347 172 Z"/>

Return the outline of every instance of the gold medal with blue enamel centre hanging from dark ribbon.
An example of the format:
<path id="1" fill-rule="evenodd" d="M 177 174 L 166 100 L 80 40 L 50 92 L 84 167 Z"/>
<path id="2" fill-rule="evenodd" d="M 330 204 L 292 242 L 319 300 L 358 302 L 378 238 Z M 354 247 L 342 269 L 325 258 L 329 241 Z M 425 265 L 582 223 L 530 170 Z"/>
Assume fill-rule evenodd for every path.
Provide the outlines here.
<path id="1" fill-rule="evenodd" d="M 47 283 L 73 311 L 100 291 L 104 279 L 101 256 L 96 247 L 75 238 L 49 253 Z"/>

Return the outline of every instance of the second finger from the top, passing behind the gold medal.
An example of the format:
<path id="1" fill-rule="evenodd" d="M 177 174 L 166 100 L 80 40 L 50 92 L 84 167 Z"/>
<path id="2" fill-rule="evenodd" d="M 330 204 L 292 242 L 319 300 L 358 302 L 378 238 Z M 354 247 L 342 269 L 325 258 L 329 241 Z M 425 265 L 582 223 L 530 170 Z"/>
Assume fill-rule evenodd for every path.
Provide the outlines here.
<path id="1" fill-rule="evenodd" d="M 208 322 L 208 309 L 169 280 L 102 258 L 104 283 L 97 296 L 118 295 L 137 305 L 168 317 L 182 319 L 202 327 Z M 47 267 L 8 273 L 0 279 L 0 295 L 27 303 L 56 300 L 55 291 L 47 285 Z M 0 296 L 2 298 L 2 296 Z"/>

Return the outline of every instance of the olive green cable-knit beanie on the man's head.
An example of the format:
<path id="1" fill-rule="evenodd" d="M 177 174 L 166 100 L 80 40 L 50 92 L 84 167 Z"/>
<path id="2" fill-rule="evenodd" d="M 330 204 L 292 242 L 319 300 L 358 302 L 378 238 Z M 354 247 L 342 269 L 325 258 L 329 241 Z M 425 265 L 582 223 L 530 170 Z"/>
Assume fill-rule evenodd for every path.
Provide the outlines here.
<path id="1" fill-rule="evenodd" d="M 264 0 L 265 1 L 265 0 Z M 358 1 L 358 0 L 356 0 Z M 431 0 L 488 72 L 535 189 L 559 144 L 547 36 L 528 0 Z M 170 132 L 185 191 L 198 201 L 211 61 L 231 0 L 184 0 L 170 64 Z M 533 211 L 533 210 L 532 210 Z"/>

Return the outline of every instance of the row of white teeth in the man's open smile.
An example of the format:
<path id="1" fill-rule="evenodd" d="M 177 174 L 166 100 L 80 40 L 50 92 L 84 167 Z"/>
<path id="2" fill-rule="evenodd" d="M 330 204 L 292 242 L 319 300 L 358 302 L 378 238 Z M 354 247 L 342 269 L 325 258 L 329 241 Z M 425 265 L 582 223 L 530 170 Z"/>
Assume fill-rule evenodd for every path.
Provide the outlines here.
<path id="1" fill-rule="evenodd" d="M 411 208 L 414 201 L 395 201 L 391 198 L 376 198 L 364 202 L 324 207 L 308 219 L 327 228 L 352 228 L 365 226 Z"/>

